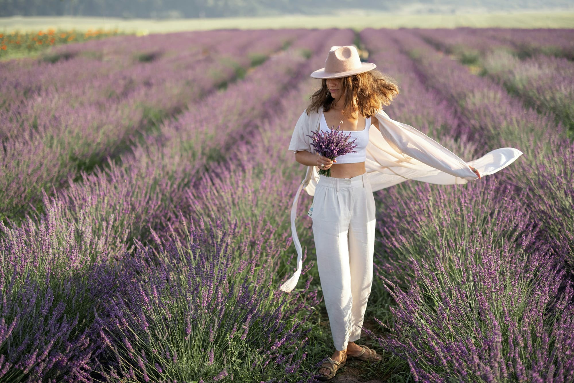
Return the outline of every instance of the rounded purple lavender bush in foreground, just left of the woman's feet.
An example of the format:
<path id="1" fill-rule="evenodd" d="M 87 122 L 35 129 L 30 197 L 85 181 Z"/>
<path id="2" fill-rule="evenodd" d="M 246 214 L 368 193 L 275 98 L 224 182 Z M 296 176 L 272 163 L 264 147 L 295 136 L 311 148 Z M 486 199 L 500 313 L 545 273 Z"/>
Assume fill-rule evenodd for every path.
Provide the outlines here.
<path id="1" fill-rule="evenodd" d="M 290 318 L 316 301 L 288 305 L 262 273 L 253 284 L 255 270 L 271 266 L 261 252 L 276 245 L 261 237 L 232 246 L 237 230 L 207 229 L 202 221 L 184 237 L 158 239 L 158 252 L 138 246 L 125 258 L 126 285 L 100 319 L 113 355 L 104 377 L 207 381 L 225 371 L 234 380 L 261 381 L 298 369 L 305 355 L 293 356 L 310 329 L 302 328 L 305 319 Z M 289 346 L 294 350 L 284 354 Z"/>

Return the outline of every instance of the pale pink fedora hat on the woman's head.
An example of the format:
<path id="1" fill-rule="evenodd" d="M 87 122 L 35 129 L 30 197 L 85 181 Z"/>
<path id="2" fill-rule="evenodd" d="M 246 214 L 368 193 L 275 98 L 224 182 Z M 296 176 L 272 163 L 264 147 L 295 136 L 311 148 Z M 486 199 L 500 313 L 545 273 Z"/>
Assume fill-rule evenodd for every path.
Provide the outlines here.
<path id="1" fill-rule="evenodd" d="M 331 47 L 325 67 L 311 73 L 314 79 L 338 79 L 375 69 L 373 63 L 361 63 L 359 52 L 352 45 Z"/>

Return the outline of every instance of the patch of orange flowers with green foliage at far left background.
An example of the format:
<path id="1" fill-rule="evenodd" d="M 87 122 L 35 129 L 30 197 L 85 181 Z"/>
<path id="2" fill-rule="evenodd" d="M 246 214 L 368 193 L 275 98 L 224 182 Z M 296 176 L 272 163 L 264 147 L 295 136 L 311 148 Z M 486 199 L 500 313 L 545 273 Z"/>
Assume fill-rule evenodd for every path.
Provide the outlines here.
<path id="1" fill-rule="evenodd" d="M 38 32 L 0 33 L 0 60 L 15 56 L 33 55 L 46 51 L 50 47 L 69 44 L 71 42 L 83 42 L 96 40 L 110 36 L 120 36 L 118 29 L 88 29 L 63 30 L 53 29 L 38 30 Z"/>

